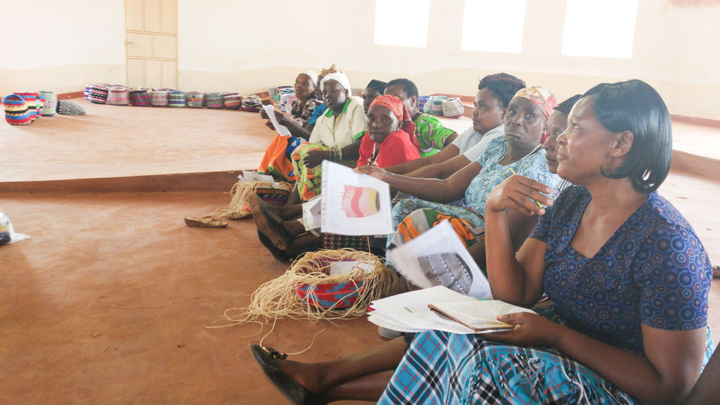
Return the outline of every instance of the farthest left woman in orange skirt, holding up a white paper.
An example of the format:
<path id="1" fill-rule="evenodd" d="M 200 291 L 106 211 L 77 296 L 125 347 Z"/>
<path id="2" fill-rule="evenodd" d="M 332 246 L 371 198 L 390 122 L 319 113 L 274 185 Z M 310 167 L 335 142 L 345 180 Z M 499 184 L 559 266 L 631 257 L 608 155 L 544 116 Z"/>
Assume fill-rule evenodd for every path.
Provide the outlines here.
<path id="1" fill-rule="evenodd" d="M 312 128 L 315 126 L 315 120 L 311 122 L 312 112 L 315 107 L 323 104 L 322 98 L 318 98 L 315 90 L 316 85 L 319 84 L 319 79 L 314 71 L 305 71 L 297 75 L 294 84 L 297 99 L 292 102 L 291 115 L 287 116 L 283 112 L 275 111 L 278 123 L 286 126 L 292 135 L 275 135 L 275 138 L 273 138 L 270 146 L 265 151 L 258 173 L 269 174 L 277 181 L 294 182 L 295 176 L 290 161 L 290 153 L 300 143 L 310 138 Z M 261 117 L 267 118 L 264 110 L 261 111 Z M 267 121 L 266 125 L 274 129 L 270 120 Z"/>

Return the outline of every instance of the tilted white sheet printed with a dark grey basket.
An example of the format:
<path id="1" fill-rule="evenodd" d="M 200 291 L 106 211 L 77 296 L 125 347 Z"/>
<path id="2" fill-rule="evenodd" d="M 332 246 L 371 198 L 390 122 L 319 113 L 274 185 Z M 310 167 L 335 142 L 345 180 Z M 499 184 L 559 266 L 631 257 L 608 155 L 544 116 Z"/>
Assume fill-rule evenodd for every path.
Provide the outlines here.
<path id="1" fill-rule="evenodd" d="M 492 298 L 490 283 L 449 221 L 442 221 L 406 244 L 390 249 L 395 270 L 420 288 L 443 285 L 477 298 Z"/>

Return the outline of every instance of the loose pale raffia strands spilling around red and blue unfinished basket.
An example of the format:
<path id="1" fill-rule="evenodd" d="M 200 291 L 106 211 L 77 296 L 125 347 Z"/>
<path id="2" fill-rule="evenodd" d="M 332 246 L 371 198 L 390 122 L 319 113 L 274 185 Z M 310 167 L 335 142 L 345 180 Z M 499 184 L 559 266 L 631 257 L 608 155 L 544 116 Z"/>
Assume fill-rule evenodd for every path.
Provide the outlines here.
<path id="1" fill-rule="evenodd" d="M 358 265 L 348 272 L 330 275 L 333 262 L 357 261 Z M 372 270 L 365 270 L 367 267 Z M 319 290 L 323 285 L 341 285 L 349 282 L 355 285 L 356 299 L 351 306 L 338 309 L 337 306 L 324 308 L 311 294 L 302 298 L 298 288 L 307 285 L 308 291 Z M 230 308 L 225 311 L 225 320 L 233 324 L 269 321 L 278 318 L 308 319 L 355 319 L 364 316 L 370 301 L 382 298 L 397 282 L 397 274 L 385 266 L 384 260 L 369 252 L 352 249 L 319 250 L 307 252 L 295 260 L 284 275 L 261 285 L 251 296 L 250 306 Z"/>

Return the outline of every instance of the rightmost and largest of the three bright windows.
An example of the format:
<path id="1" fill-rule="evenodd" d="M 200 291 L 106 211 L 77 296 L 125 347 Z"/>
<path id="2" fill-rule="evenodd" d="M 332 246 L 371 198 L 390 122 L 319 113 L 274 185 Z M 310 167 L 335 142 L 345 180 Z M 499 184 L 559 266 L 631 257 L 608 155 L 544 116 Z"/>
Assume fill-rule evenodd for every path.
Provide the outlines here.
<path id="1" fill-rule="evenodd" d="M 630 58 L 637 0 L 567 0 L 562 54 Z"/>

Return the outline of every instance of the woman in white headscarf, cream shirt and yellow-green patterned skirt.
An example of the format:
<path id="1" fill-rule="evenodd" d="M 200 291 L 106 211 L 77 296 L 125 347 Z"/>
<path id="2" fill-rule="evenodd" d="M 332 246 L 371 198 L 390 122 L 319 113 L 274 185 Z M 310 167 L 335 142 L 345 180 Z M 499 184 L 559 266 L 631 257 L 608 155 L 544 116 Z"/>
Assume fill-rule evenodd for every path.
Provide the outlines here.
<path id="1" fill-rule="evenodd" d="M 356 166 L 360 141 L 367 131 L 362 101 L 352 97 L 347 76 L 339 72 L 328 74 L 320 84 L 328 110 L 312 128 L 310 142 L 292 152 L 292 166 L 297 177 L 295 185 L 302 201 L 320 194 L 320 164 L 323 160 Z"/>

